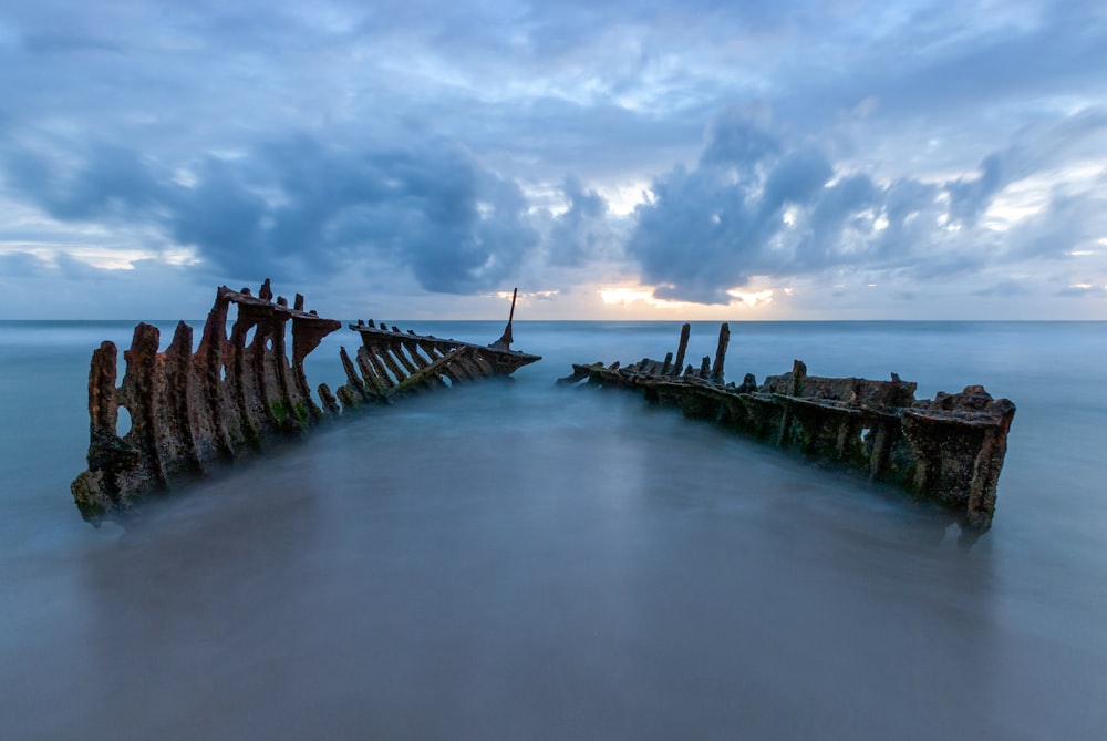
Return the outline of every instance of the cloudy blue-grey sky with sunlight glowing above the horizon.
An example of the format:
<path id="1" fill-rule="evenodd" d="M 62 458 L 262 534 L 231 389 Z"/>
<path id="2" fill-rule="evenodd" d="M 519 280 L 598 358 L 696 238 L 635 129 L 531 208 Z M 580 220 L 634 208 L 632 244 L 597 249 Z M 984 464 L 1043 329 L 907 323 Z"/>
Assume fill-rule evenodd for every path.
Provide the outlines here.
<path id="1" fill-rule="evenodd" d="M 0 3 L 0 319 L 1107 319 L 1107 6 Z"/>

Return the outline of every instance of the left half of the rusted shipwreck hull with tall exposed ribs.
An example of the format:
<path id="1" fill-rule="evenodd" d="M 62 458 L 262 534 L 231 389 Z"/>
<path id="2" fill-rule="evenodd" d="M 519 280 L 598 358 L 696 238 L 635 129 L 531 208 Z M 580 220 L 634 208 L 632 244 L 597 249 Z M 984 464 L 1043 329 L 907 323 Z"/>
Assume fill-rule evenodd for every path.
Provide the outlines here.
<path id="1" fill-rule="evenodd" d="M 237 308 L 230 335 L 228 311 Z M 377 327 L 373 320 L 350 328 L 362 344 L 356 368 L 345 348 L 346 383 L 335 395 L 325 383 L 312 397 L 304 358 L 342 327 L 277 297 L 267 279 L 258 296 L 248 288 L 216 291 L 204 333 L 193 351 L 193 329 L 178 322 L 173 341 L 158 352 L 156 327 L 139 323 L 123 358 L 103 342 L 89 372 L 89 469 L 71 486 L 81 515 L 93 524 L 128 513 L 142 497 L 206 473 L 213 465 L 267 444 L 302 435 L 324 419 L 365 403 L 386 403 L 408 393 L 510 375 L 541 358 L 511 350 L 511 315 L 499 340 L 488 347 Z M 292 348 L 286 342 L 291 323 Z M 359 374 L 358 369 L 361 373 Z M 118 429 L 126 410 L 131 428 Z M 122 434 L 121 434 L 122 432 Z"/>

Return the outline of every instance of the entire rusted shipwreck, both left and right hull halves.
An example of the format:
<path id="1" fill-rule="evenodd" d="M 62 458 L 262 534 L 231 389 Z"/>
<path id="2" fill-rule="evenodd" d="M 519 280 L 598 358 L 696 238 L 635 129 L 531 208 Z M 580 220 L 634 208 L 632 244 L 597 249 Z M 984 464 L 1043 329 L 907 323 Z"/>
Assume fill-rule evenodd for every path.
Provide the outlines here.
<path id="1" fill-rule="evenodd" d="M 257 296 L 248 288 L 216 291 L 200 342 L 178 322 L 158 352 L 156 327 L 139 323 L 124 351 L 103 342 L 89 373 L 89 469 L 71 486 L 82 516 L 93 524 L 122 517 L 145 496 L 200 476 L 270 443 L 300 436 L 320 422 L 359 406 L 391 403 L 406 394 L 508 377 L 541 358 L 511 349 L 517 294 L 503 336 L 482 346 L 359 320 L 349 329 L 361 340 L 353 358 L 340 348 L 346 382 L 312 398 L 304 359 L 342 327 L 273 299 L 269 280 Z M 237 309 L 228 335 L 230 307 Z M 291 323 L 291 356 L 288 326 Z M 996 484 L 1006 454 L 1015 405 L 992 399 L 983 387 L 917 400 L 917 384 L 892 373 L 889 381 L 819 378 L 795 361 L 788 373 L 764 383 L 747 373 L 738 385 L 724 379 L 730 327 L 723 325 L 714 362 L 684 366 L 690 325 L 675 358 L 643 358 L 620 367 L 573 364 L 559 383 L 640 390 L 650 401 L 680 406 L 691 418 L 860 471 L 951 508 L 962 529 L 989 529 Z M 683 369 L 683 370 L 682 370 Z M 130 430 L 118 429 L 121 411 Z"/>

